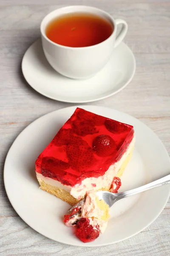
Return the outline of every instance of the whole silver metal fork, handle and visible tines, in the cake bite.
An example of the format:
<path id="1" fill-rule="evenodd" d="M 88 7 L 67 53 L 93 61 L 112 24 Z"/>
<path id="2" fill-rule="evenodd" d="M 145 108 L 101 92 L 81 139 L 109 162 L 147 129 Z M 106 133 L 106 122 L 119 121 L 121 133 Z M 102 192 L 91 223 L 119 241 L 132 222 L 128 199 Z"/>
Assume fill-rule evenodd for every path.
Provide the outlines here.
<path id="1" fill-rule="evenodd" d="M 114 203 L 116 203 L 118 200 L 122 199 L 122 198 L 126 198 L 130 195 L 135 195 L 138 194 L 140 192 L 144 192 L 148 189 L 153 189 L 156 188 L 158 186 L 162 186 L 165 184 L 170 184 L 170 175 L 167 175 L 165 177 L 162 177 L 159 180 L 155 180 L 153 182 L 150 182 L 144 186 L 140 186 L 139 188 L 136 189 L 131 189 L 129 191 L 126 192 L 121 192 L 121 193 L 111 193 L 108 191 L 97 191 L 96 195 L 99 197 L 99 200 L 104 200 L 106 202 L 106 204 L 108 204 L 109 207 L 112 207 L 112 205 Z M 85 203 L 85 199 L 83 198 L 82 200 L 80 200 L 77 204 L 75 204 L 73 207 L 71 207 L 70 209 L 68 209 L 68 212 L 71 212 L 74 208 L 80 207 L 83 203 Z M 73 215 L 70 216 L 70 218 L 72 218 L 75 215 L 78 215 L 80 213 L 76 212 Z"/>

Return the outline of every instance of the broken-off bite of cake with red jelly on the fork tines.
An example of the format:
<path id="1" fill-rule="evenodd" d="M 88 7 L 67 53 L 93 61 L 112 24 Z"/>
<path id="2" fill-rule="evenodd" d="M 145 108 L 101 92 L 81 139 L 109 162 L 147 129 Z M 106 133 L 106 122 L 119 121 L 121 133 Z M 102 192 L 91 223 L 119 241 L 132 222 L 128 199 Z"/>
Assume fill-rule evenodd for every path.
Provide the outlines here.
<path id="1" fill-rule="evenodd" d="M 80 213 L 74 217 L 71 214 L 64 215 L 64 222 L 68 227 L 76 227 L 75 233 L 81 241 L 94 241 L 100 233 L 104 233 L 110 217 L 109 206 L 105 201 L 99 200 L 94 190 L 87 192 L 85 204 L 74 212 Z"/>

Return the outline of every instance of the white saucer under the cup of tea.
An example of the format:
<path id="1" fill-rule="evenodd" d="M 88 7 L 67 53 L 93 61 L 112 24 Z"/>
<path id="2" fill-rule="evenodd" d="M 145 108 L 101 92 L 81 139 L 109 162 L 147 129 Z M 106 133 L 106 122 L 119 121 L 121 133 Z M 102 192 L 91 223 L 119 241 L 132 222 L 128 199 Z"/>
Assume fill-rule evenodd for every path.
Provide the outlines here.
<path id="1" fill-rule="evenodd" d="M 136 62 L 126 44 L 121 43 L 110 61 L 94 77 L 74 80 L 57 73 L 48 64 L 38 39 L 26 51 L 22 61 L 23 75 L 37 92 L 62 102 L 83 103 L 107 98 L 126 87 L 135 73 Z"/>

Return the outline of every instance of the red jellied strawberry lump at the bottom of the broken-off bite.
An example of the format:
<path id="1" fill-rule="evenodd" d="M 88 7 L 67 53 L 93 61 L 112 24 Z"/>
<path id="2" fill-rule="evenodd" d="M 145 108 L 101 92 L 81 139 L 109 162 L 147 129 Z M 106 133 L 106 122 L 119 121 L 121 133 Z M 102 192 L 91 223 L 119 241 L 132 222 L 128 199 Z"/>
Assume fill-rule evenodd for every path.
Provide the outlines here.
<path id="1" fill-rule="evenodd" d="M 77 222 L 76 235 L 84 243 L 94 241 L 99 236 L 99 226 L 93 227 L 88 218 L 81 218 Z"/>

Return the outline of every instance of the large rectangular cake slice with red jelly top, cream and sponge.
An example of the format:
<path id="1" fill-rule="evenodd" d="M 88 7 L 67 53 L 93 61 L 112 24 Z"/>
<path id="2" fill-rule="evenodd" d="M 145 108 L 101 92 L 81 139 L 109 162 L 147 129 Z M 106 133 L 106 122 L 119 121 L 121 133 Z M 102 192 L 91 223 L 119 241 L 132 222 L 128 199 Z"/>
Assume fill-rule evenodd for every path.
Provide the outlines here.
<path id="1" fill-rule="evenodd" d="M 134 142 L 133 126 L 77 108 L 36 160 L 40 188 L 71 205 L 92 189 L 116 192 Z"/>

